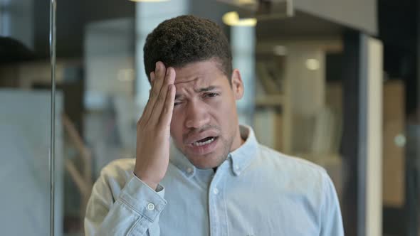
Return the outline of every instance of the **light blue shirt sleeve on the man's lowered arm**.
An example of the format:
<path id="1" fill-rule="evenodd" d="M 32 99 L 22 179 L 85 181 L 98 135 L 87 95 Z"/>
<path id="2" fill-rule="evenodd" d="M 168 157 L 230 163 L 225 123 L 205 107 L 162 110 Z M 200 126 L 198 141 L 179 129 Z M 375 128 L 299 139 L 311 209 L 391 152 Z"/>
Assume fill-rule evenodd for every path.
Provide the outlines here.
<path id="1" fill-rule="evenodd" d="M 344 236 L 340 203 L 330 176 L 325 173 L 324 198 L 321 206 L 321 236 Z"/>

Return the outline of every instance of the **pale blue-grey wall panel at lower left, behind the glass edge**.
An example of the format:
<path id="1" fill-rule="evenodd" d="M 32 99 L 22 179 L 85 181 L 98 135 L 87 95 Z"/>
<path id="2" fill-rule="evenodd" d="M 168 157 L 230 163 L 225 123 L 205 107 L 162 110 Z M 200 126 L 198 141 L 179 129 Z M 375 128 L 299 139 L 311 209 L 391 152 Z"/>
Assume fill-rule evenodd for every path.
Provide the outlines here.
<path id="1" fill-rule="evenodd" d="M 51 92 L 0 90 L 1 235 L 50 232 Z M 61 94 L 56 95 L 56 235 L 63 235 Z"/>

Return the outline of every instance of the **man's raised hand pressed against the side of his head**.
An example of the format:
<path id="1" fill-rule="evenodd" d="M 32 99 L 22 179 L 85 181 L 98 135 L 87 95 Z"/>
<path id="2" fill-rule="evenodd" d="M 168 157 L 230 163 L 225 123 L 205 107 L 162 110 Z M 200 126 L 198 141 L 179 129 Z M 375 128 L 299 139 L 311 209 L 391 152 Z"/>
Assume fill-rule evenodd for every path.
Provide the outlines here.
<path id="1" fill-rule="evenodd" d="M 150 73 L 152 90 L 137 122 L 135 175 L 150 188 L 157 185 L 169 165 L 169 136 L 175 100 L 175 70 L 162 62 Z"/>

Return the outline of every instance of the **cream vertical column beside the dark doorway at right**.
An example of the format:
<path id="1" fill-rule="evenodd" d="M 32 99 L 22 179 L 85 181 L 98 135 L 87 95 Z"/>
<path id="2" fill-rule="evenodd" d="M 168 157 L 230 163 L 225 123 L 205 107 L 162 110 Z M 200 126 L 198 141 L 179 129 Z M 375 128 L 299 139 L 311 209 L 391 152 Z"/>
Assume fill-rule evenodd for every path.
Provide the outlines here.
<path id="1" fill-rule="evenodd" d="M 364 176 L 364 235 L 382 235 L 382 58 L 381 41 L 361 36 L 360 161 Z M 363 137 L 364 136 L 364 137 Z M 360 178 L 362 180 L 362 178 Z M 363 180 L 362 180 L 363 181 Z"/>

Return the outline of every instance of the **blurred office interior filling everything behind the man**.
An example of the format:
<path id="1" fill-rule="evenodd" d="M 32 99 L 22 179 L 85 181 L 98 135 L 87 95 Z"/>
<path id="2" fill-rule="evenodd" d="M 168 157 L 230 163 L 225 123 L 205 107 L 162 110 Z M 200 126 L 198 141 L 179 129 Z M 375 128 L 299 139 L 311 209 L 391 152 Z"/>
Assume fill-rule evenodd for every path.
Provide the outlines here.
<path id="1" fill-rule="evenodd" d="M 101 168 L 134 158 L 143 44 L 182 14 L 224 29 L 245 83 L 241 122 L 327 170 L 346 235 L 419 235 L 420 1 L 56 3 L 56 235 L 83 235 Z M 0 0 L 1 235 L 52 223 L 50 4 Z"/>

